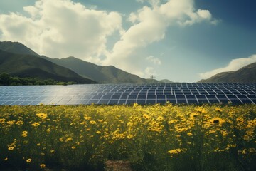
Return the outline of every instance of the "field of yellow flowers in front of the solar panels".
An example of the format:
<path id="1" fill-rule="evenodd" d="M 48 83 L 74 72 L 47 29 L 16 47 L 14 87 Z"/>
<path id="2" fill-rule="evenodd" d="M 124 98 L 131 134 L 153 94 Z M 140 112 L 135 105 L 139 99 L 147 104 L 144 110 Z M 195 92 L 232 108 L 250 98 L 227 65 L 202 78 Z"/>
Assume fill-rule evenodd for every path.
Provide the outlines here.
<path id="1" fill-rule="evenodd" d="M 256 105 L 0 106 L 0 170 L 256 170 Z"/>

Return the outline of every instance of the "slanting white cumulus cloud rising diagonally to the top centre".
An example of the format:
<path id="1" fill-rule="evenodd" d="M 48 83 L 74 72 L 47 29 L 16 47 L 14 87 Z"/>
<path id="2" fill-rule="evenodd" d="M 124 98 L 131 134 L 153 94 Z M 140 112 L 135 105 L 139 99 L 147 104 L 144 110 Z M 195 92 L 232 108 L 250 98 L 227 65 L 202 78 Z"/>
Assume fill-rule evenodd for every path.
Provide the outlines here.
<path id="1" fill-rule="evenodd" d="M 114 44 L 104 63 L 114 63 L 120 68 L 134 72 L 140 67 L 134 63 L 138 56 L 132 54 L 151 43 L 161 41 L 169 26 L 190 26 L 202 21 L 215 24 L 210 11 L 196 10 L 193 0 L 151 0 L 149 3 L 151 6 L 144 6 L 130 14 L 129 21 L 133 25 Z"/>

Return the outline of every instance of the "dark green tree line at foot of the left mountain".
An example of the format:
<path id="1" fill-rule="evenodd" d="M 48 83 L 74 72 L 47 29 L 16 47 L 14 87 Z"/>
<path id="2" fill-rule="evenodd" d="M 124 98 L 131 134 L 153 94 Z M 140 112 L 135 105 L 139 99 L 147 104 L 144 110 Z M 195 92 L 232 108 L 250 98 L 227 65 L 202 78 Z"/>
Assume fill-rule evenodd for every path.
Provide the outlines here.
<path id="1" fill-rule="evenodd" d="M 75 82 L 62 82 L 55 81 L 51 78 L 41 79 L 41 78 L 21 78 L 18 76 L 10 76 L 9 73 L 0 73 L 0 86 L 22 86 L 22 85 L 70 85 L 75 84 Z"/>

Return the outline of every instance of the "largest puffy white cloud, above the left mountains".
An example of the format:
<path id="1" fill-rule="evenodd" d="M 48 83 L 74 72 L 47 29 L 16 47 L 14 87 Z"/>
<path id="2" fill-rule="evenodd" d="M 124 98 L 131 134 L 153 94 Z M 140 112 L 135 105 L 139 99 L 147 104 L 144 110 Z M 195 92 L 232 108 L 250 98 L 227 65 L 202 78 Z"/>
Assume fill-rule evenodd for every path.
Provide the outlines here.
<path id="1" fill-rule="evenodd" d="M 87 9 L 70 0 L 40 0 L 23 9 L 30 16 L 0 15 L 1 40 L 20 41 L 54 58 L 93 56 L 97 61 L 106 51 L 107 37 L 122 31 L 117 12 Z"/>

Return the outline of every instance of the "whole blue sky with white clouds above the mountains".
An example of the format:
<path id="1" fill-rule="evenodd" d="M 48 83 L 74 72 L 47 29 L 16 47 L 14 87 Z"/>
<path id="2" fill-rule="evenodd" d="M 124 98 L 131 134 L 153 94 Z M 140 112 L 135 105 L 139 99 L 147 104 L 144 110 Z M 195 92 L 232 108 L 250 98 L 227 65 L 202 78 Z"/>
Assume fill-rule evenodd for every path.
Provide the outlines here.
<path id="1" fill-rule="evenodd" d="M 196 82 L 256 62 L 255 8 L 255 0 L 1 0 L 0 41 Z"/>

